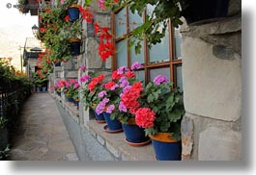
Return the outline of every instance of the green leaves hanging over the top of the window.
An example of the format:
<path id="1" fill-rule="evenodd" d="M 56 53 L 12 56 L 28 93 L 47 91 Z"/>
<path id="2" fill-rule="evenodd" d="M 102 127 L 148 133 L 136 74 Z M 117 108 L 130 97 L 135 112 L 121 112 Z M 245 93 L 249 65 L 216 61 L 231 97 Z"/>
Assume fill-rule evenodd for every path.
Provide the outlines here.
<path id="1" fill-rule="evenodd" d="M 146 13 L 145 22 L 137 27 L 132 33 L 131 38 L 137 38 L 135 53 L 140 53 L 141 43 L 147 39 L 148 46 L 161 42 L 168 28 L 168 21 L 172 21 L 172 26 L 178 27 L 183 24 L 181 21 L 182 11 L 179 3 L 184 0 L 126 0 L 118 7 L 129 6 L 131 13 L 137 12 L 140 16 L 144 15 L 147 8 L 154 9 L 152 13 Z"/>

